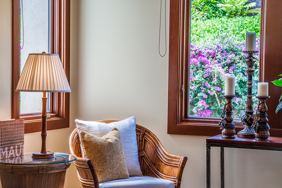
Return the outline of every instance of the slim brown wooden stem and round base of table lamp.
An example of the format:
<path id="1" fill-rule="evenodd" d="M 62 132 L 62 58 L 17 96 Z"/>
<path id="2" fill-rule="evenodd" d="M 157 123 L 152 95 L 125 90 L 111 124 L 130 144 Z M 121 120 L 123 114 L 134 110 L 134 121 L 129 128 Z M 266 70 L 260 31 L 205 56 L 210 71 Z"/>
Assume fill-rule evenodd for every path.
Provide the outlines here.
<path id="1" fill-rule="evenodd" d="M 41 131 L 41 152 L 32 153 L 33 158 L 52 158 L 55 157 L 54 152 L 46 150 L 46 137 L 47 137 L 47 97 L 46 92 L 43 92 L 42 97 L 42 131 Z"/>

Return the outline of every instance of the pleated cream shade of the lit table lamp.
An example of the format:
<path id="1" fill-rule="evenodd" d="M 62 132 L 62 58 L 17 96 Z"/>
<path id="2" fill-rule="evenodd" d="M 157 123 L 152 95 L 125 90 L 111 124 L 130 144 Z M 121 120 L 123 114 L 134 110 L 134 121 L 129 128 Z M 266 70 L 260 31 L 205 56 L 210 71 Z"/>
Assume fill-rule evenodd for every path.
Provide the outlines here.
<path id="1" fill-rule="evenodd" d="M 70 92 L 58 54 L 29 54 L 16 91 Z"/>

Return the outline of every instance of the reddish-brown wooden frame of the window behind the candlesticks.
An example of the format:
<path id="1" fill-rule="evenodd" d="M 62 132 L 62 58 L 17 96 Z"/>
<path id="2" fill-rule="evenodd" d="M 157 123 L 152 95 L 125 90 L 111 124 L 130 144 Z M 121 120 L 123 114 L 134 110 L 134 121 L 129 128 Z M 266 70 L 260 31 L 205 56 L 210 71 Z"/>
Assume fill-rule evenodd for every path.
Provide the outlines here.
<path id="1" fill-rule="evenodd" d="M 169 85 L 168 85 L 168 130 L 169 134 L 186 134 L 214 136 L 221 133 L 219 118 L 186 117 L 189 96 L 189 62 L 190 62 L 190 5 L 191 0 L 170 1 L 170 39 L 169 39 Z M 282 6 L 274 0 L 262 0 L 260 32 L 259 81 L 269 82 L 270 98 L 266 104 L 271 136 L 282 136 L 282 110 L 275 114 L 281 95 L 281 88 L 272 86 L 271 81 L 282 74 L 273 67 L 282 66 L 282 39 L 279 31 L 282 24 L 277 18 L 282 17 Z M 280 17 L 279 17 L 280 16 Z M 273 44 L 277 44 L 273 48 Z M 243 60 L 243 59 L 242 59 Z M 267 61 L 267 63 L 265 63 Z M 186 68 L 185 68 L 186 67 Z M 271 74 L 267 74 L 267 73 Z M 273 76 L 274 75 L 274 76 Z M 277 75 L 277 77 L 275 77 Z M 271 86 L 270 86 L 271 85 Z M 182 94 L 182 86 L 185 95 Z M 254 103 L 255 107 L 256 102 Z M 235 123 L 235 131 L 243 130 L 242 123 Z"/>

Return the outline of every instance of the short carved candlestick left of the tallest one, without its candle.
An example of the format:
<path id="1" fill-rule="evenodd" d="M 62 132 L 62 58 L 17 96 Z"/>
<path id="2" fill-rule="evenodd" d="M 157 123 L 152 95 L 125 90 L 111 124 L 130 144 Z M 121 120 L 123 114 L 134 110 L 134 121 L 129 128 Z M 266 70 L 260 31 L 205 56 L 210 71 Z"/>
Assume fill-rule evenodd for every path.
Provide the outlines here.
<path id="1" fill-rule="evenodd" d="M 235 97 L 234 95 L 224 95 L 223 96 L 226 99 L 226 103 L 223 108 L 222 112 L 222 119 L 219 123 L 220 129 L 222 129 L 222 138 L 235 138 L 235 124 L 232 123 L 232 99 Z"/>

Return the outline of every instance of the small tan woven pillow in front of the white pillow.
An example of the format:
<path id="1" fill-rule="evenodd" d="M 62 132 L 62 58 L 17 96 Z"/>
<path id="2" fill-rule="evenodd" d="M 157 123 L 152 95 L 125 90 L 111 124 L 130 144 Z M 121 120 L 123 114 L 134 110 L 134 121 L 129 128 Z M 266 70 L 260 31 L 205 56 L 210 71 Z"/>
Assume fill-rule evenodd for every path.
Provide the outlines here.
<path id="1" fill-rule="evenodd" d="M 81 131 L 80 141 L 82 155 L 92 159 L 100 183 L 129 178 L 117 128 L 113 128 L 102 138 Z"/>

